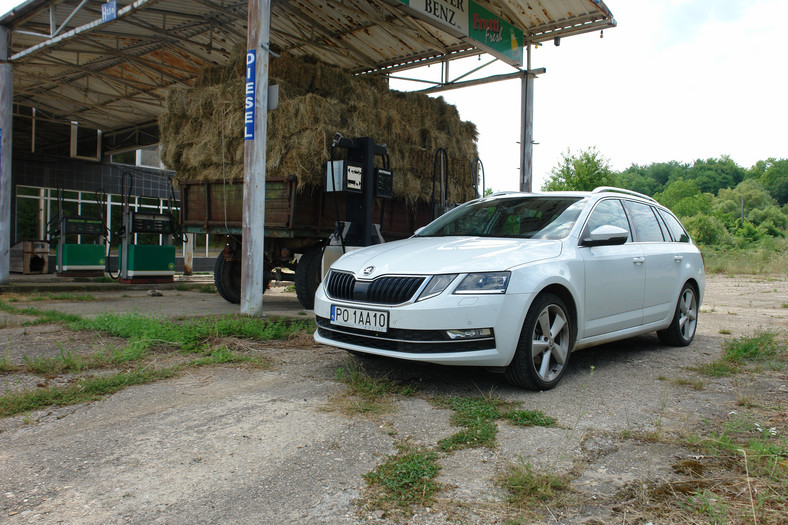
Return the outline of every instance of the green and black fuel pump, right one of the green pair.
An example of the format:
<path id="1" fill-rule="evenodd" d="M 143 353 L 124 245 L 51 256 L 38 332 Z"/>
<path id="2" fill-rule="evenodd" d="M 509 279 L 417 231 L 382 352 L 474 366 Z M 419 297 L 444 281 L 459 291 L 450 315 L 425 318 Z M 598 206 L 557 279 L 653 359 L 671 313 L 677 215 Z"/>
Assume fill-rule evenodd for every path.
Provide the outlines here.
<path id="1" fill-rule="evenodd" d="M 175 219 L 171 214 L 141 212 L 131 208 L 134 178 L 123 174 L 123 216 L 119 251 L 119 281 L 122 283 L 171 283 L 175 275 L 175 246 L 135 244 L 134 234 L 173 235 Z"/>

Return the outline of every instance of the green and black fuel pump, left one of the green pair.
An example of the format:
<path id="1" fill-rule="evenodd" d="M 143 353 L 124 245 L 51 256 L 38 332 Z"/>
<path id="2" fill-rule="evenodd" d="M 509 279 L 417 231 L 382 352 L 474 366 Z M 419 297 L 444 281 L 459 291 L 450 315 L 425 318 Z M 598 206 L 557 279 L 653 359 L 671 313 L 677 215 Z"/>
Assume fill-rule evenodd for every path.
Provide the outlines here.
<path id="1" fill-rule="evenodd" d="M 103 200 L 103 199 L 101 199 Z M 103 202 L 96 194 L 99 210 Z M 88 215 L 69 216 L 63 206 L 63 190 L 58 188 L 58 218 L 56 226 L 50 231 L 50 239 L 57 239 L 55 248 L 55 272 L 58 277 L 101 277 L 104 275 L 106 223 L 104 217 Z M 90 244 L 69 243 L 78 235 L 92 239 Z M 51 242 L 51 240 L 50 240 Z"/>

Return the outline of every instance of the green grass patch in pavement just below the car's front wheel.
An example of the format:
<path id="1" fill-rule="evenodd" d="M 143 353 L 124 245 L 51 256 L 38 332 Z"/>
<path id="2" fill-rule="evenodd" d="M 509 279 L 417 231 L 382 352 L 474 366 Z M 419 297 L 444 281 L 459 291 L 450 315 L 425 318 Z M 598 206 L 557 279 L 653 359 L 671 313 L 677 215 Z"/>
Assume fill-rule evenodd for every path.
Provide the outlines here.
<path id="1" fill-rule="evenodd" d="M 554 426 L 555 419 L 541 412 L 520 410 L 517 404 L 497 396 L 436 398 L 433 404 L 454 411 L 452 424 L 465 427 L 438 442 L 438 450 L 451 452 L 464 448 L 493 447 L 498 434 L 495 421 L 506 420 L 516 426 Z"/>

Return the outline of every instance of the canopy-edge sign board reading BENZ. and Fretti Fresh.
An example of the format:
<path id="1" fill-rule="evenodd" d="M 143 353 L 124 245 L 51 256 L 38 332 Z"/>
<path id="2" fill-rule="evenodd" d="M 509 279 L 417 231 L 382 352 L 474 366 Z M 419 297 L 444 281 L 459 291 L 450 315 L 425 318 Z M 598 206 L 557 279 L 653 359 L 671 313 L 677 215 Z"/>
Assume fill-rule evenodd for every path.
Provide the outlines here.
<path id="1" fill-rule="evenodd" d="M 513 66 L 523 65 L 523 32 L 473 0 L 400 0 L 406 10 Z"/>

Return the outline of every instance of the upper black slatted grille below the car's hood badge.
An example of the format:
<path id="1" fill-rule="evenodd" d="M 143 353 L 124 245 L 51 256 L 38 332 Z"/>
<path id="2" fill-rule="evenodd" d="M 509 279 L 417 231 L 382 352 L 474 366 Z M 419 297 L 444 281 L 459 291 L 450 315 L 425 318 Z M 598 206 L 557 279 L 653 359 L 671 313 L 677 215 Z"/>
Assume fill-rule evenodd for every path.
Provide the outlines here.
<path id="1" fill-rule="evenodd" d="M 332 299 L 358 303 L 395 305 L 407 303 L 425 277 L 378 277 L 373 281 L 357 280 L 353 274 L 331 271 L 326 291 Z"/>

